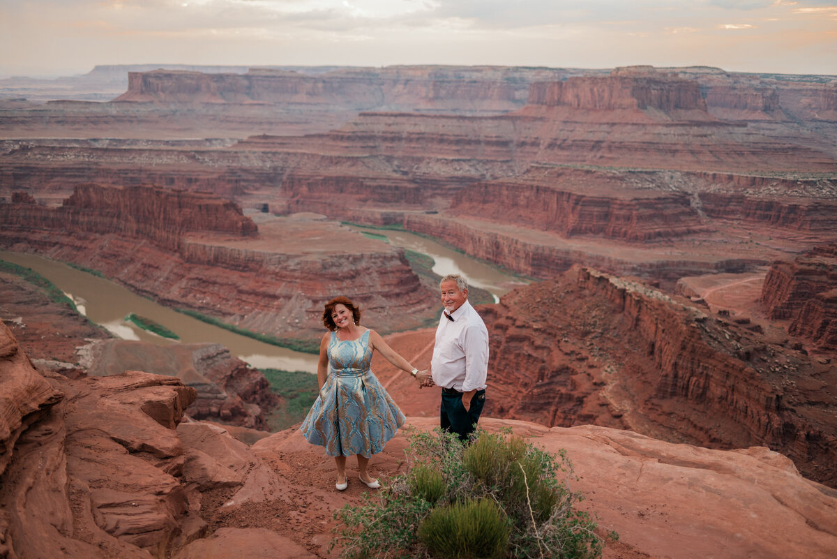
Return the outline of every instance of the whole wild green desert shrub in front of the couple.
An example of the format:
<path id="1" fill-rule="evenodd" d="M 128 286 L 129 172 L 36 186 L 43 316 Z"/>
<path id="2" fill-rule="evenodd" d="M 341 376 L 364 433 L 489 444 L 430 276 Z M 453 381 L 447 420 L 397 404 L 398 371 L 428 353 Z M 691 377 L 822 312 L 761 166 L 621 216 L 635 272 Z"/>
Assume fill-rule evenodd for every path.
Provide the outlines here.
<path id="1" fill-rule="evenodd" d="M 478 430 L 470 444 L 463 445 L 454 433 L 436 429 L 412 433 L 405 454 L 410 466 L 406 474 L 395 476 L 377 495 L 367 495 L 362 505 L 346 505 L 336 512 L 340 522 L 332 545 L 343 546 L 342 556 L 601 556 L 603 539 L 596 524 L 573 508 L 581 495 L 567 488 L 572 468 L 563 452 L 549 454 L 511 432 Z M 488 504 L 497 510 L 502 531 L 490 512 L 470 508 Z M 476 514 L 491 520 L 485 520 L 485 526 L 463 527 L 467 523 L 462 519 Z M 457 546 L 460 540 L 470 541 L 470 530 L 484 542 L 505 533 L 506 543 L 491 547 L 505 551 L 469 555 L 476 548 Z"/>

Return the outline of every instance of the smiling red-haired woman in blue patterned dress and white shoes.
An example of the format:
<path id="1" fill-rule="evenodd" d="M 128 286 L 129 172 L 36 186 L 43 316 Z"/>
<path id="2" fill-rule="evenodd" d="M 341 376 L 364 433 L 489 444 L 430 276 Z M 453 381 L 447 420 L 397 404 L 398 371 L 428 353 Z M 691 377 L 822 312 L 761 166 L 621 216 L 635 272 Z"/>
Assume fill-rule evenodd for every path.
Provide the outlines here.
<path id="1" fill-rule="evenodd" d="M 337 465 L 337 490 L 348 486 L 346 457 L 357 454 L 360 480 L 371 489 L 380 487 L 367 474 L 372 454 L 383 450 L 405 418 L 393 398 L 369 370 L 377 350 L 395 367 L 415 377 L 417 369 L 391 349 L 374 330 L 360 326 L 361 310 L 347 297 L 326 303 L 322 323 L 330 333 L 322 336 L 317 365 L 317 396 L 300 430 L 311 444 L 326 447 Z M 331 370 L 331 373 L 329 372 Z"/>

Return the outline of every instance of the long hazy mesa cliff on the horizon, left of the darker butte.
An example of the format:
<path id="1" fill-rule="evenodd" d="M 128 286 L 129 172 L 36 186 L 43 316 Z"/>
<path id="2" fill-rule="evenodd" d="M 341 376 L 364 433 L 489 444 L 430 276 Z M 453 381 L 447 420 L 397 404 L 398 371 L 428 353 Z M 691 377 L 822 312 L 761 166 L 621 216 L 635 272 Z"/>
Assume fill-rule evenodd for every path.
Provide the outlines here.
<path id="1" fill-rule="evenodd" d="M 129 73 L 128 90 L 116 101 L 496 113 L 520 106 L 532 80 L 562 79 L 567 74 L 571 72 L 501 66 L 390 66 L 319 74 L 280 69 L 249 69 L 246 74 L 152 70 Z"/>

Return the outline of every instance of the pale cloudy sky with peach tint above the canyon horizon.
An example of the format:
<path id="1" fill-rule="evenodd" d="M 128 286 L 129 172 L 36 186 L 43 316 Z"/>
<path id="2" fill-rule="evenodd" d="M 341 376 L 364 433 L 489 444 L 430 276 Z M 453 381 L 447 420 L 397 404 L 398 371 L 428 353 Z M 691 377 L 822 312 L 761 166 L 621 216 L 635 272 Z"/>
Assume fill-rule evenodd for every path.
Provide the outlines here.
<path id="1" fill-rule="evenodd" d="M 0 0 L 0 77 L 96 64 L 837 74 L 837 0 Z"/>

